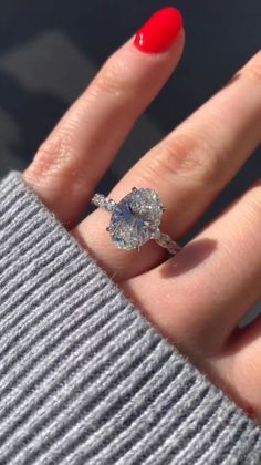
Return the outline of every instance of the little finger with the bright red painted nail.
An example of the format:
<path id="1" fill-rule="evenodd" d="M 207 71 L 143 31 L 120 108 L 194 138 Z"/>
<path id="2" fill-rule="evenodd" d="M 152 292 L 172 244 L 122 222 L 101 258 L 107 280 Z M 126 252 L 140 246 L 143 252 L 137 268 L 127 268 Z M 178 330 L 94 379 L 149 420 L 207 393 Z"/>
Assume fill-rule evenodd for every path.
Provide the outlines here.
<path id="1" fill-rule="evenodd" d="M 67 226 L 86 208 L 133 124 L 177 65 L 182 46 L 180 13 L 160 10 L 106 61 L 40 147 L 24 178 Z"/>

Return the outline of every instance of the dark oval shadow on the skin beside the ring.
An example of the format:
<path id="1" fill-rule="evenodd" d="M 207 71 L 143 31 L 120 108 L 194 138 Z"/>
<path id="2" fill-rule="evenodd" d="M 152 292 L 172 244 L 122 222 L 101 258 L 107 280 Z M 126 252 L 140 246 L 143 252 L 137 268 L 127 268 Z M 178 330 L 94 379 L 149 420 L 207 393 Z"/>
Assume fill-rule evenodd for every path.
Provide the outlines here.
<path id="1" fill-rule="evenodd" d="M 160 269 L 165 278 L 184 275 L 202 264 L 217 248 L 217 240 L 196 239 L 185 246 L 178 255 L 167 260 Z"/>

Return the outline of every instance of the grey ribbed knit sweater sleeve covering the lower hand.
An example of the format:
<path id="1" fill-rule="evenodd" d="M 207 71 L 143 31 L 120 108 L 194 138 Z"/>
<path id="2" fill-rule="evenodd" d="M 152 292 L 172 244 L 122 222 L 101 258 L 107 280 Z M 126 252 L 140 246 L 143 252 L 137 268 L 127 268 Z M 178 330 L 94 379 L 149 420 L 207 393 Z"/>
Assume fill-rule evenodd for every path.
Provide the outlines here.
<path id="1" fill-rule="evenodd" d="M 12 172 L 0 184 L 0 464 L 260 464 L 261 428 Z"/>

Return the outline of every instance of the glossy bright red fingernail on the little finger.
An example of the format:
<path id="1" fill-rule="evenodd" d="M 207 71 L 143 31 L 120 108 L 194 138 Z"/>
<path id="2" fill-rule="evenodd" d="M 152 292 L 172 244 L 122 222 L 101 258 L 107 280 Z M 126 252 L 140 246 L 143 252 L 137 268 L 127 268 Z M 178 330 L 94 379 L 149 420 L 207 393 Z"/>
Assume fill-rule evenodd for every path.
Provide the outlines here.
<path id="1" fill-rule="evenodd" d="M 163 8 L 139 29 L 134 44 L 142 52 L 160 53 L 173 45 L 181 29 L 181 13 L 171 7 Z"/>

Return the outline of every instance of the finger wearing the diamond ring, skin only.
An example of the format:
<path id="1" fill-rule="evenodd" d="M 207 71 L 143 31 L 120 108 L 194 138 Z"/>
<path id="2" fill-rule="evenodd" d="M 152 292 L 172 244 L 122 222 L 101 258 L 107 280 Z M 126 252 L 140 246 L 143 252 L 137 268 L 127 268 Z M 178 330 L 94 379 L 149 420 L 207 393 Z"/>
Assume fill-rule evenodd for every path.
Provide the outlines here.
<path id="1" fill-rule="evenodd" d="M 161 229 L 179 239 L 240 169 L 260 138 L 261 53 L 149 151 L 109 196 L 118 200 L 133 186 L 157 190 L 166 207 Z M 105 231 L 107 223 L 106 213 L 95 211 L 80 225 L 77 235 L 116 277 L 140 273 L 165 257 L 159 247 L 150 244 L 139 255 L 115 250 Z M 101 241 L 106 241 L 106 249 L 100 247 Z"/>

